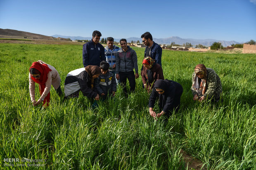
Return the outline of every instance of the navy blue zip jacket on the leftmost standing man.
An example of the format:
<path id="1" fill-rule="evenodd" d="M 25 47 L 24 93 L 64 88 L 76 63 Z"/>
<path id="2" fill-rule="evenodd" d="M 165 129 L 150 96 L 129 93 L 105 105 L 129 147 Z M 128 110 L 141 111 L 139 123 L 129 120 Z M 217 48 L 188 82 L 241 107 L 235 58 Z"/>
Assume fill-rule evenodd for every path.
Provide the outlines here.
<path id="1" fill-rule="evenodd" d="M 94 65 L 100 67 L 101 61 L 106 61 L 104 47 L 98 43 L 94 44 L 91 40 L 83 44 L 83 66 Z"/>

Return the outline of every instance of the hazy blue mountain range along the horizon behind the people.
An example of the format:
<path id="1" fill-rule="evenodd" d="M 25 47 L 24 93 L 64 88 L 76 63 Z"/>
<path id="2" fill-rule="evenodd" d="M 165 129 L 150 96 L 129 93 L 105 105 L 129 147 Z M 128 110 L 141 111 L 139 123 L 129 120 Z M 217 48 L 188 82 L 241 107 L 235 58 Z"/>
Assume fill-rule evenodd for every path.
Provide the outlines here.
<path id="1" fill-rule="evenodd" d="M 52 35 L 52 37 L 62 37 L 62 38 L 70 38 L 71 40 L 90 40 L 92 37 L 71 37 L 71 36 L 64 36 L 64 35 Z M 105 37 L 103 37 L 105 39 Z M 127 42 L 137 42 L 138 40 L 140 43 L 142 43 L 142 39 L 138 37 L 130 37 L 126 38 Z M 120 39 L 115 39 L 114 41 L 119 42 Z M 224 40 L 216 40 L 216 39 L 183 39 L 180 37 L 168 37 L 168 38 L 154 38 L 153 41 L 155 41 L 157 44 L 167 44 L 170 45 L 172 42 L 175 42 L 175 44 L 186 44 L 191 43 L 193 46 L 202 44 L 204 46 L 211 46 L 214 42 L 220 42 L 224 47 L 230 46 L 231 44 L 240 44 L 237 41 L 224 41 Z"/>

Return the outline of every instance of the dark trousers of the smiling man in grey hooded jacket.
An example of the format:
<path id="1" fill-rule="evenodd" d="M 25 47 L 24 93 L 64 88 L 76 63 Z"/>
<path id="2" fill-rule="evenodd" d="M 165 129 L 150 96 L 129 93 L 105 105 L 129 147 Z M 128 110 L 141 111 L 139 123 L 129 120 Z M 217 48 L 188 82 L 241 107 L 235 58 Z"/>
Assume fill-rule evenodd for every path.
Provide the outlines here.
<path id="1" fill-rule="evenodd" d="M 120 85 L 123 87 L 123 91 L 125 94 L 127 94 L 126 89 L 126 80 L 128 78 L 129 84 L 130 84 L 130 91 L 134 92 L 135 90 L 135 75 L 133 71 L 129 72 L 119 72 L 119 78 L 120 78 Z"/>

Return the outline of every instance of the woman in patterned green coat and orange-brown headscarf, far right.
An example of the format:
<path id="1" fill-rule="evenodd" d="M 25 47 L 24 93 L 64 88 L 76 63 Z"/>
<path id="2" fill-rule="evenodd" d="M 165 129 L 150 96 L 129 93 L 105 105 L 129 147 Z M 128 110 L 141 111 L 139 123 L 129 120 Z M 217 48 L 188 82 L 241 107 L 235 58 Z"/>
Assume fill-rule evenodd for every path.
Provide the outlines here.
<path id="1" fill-rule="evenodd" d="M 203 101 L 208 98 L 217 102 L 222 94 L 220 77 L 213 69 L 197 64 L 192 75 L 191 90 L 193 100 Z"/>

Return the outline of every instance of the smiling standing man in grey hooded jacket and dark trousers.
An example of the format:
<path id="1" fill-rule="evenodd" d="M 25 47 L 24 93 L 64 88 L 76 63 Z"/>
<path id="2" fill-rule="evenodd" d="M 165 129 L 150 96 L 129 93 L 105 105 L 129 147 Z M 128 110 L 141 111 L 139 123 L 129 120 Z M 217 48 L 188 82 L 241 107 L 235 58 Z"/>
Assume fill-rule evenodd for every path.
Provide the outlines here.
<path id="1" fill-rule="evenodd" d="M 126 39 L 121 39 L 120 44 L 122 50 L 116 55 L 116 79 L 119 80 L 120 78 L 120 85 L 123 87 L 125 94 L 127 94 L 127 78 L 131 92 L 135 90 L 135 78 L 139 78 L 137 54 L 132 48 L 127 46 Z M 133 68 L 135 69 L 135 75 Z"/>

